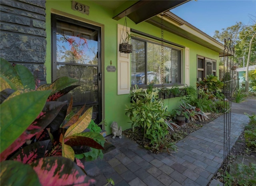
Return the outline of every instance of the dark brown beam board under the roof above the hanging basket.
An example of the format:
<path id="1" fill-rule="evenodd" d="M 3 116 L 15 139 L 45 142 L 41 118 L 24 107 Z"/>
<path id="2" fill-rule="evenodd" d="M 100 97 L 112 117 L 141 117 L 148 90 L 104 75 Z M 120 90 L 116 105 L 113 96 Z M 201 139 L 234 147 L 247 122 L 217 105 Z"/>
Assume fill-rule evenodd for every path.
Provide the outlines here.
<path id="1" fill-rule="evenodd" d="M 120 20 L 127 16 L 138 24 L 188 1 L 190 0 L 140 0 L 120 13 L 116 13 L 113 19 Z"/>

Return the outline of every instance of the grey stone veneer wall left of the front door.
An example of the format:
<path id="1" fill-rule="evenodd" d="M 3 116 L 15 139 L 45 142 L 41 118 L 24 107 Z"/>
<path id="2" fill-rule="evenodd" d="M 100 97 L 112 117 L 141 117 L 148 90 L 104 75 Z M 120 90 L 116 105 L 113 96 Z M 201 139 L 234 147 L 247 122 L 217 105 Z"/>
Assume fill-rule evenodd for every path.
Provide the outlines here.
<path id="1" fill-rule="evenodd" d="M 45 0 L 0 1 L 0 56 L 37 70 L 46 83 Z"/>

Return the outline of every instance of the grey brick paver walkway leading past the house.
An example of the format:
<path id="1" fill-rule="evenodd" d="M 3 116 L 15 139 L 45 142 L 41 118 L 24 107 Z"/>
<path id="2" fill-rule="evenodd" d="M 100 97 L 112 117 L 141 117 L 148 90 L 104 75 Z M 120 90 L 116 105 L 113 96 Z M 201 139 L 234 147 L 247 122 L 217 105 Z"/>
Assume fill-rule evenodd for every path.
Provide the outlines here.
<path id="1" fill-rule="evenodd" d="M 124 137 L 107 136 L 116 148 L 103 160 L 86 162 L 87 174 L 95 186 L 104 186 L 112 178 L 115 186 L 206 186 L 223 162 L 224 115 L 176 143 L 178 152 L 152 154 Z M 231 146 L 249 118 L 231 115 Z"/>

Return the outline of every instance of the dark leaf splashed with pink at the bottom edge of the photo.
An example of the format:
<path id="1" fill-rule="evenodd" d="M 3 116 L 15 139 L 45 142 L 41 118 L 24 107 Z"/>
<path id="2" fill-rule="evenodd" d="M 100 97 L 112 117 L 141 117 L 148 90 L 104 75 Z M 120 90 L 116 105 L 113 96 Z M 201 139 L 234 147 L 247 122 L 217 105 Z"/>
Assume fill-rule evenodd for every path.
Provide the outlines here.
<path id="1" fill-rule="evenodd" d="M 30 164 L 43 186 L 90 186 L 95 180 L 68 158 L 46 157 Z"/>

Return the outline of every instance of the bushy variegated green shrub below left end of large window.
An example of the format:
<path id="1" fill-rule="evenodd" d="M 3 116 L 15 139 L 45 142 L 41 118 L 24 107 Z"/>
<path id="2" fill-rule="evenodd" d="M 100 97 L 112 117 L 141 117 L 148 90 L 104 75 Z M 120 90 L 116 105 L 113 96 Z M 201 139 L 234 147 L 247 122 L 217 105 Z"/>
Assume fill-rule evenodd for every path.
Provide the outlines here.
<path id="1" fill-rule="evenodd" d="M 164 107 L 162 99 L 158 99 L 158 88 L 150 88 L 142 90 L 142 88 L 135 88 L 130 93 L 132 103 L 130 106 L 126 105 L 126 115 L 132 121 L 132 129 L 139 127 L 143 132 L 143 139 L 151 140 L 152 149 L 167 150 L 168 147 L 173 147 L 168 144 L 163 136 L 168 134 L 168 127 L 170 122 L 166 122 L 168 112 L 167 106 Z M 163 147 L 165 146 L 165 147 Z"/>

